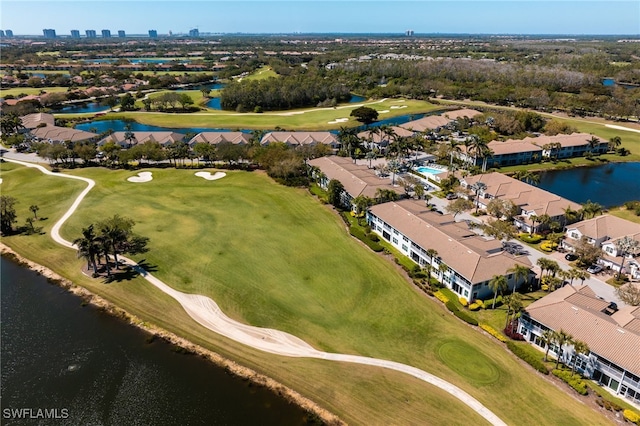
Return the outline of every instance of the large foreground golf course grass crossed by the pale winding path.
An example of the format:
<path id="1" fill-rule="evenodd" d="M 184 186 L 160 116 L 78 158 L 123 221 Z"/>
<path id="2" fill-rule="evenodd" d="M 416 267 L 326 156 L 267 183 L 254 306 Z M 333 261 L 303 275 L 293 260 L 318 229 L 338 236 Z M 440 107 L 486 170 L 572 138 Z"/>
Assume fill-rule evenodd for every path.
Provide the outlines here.
<path id="1" fill-rule="evenodd" d="M 0 170 L 3 194 L 19 200 L 20 222 L 29 205 L 38 204 L 49 218 L 41 222 L 47 233 L 83 188 L 7 163 Z M 127 182 L 131 171 L 72 171 L 97 186 L 63 236 L 73 239 L 111 214 L 132 217 L 135 230 L 151 238 L 150 252 L 137 259 L 154 265 L 154 274 L 173 287 L 211 296 L 233 318 L 293 333 L 326 351 L 422 368 L 462 387 L 509 424 L 607 423 L 414 290 L 396 265 L 349 237 L 344 222 L 306 190 L 276 185 L 260 172 L 206 181 L 193 171 L 151 171 L 154 180 L 144 184 Z M 82 260 L 48 234 L 3 242 L 145 321 L 275 377 L 348 423 L 482 423 L 451 396 L 399 373 L 276 357 L 230 342 L 139 278 L 104 284 L 84 277 Z"/>

